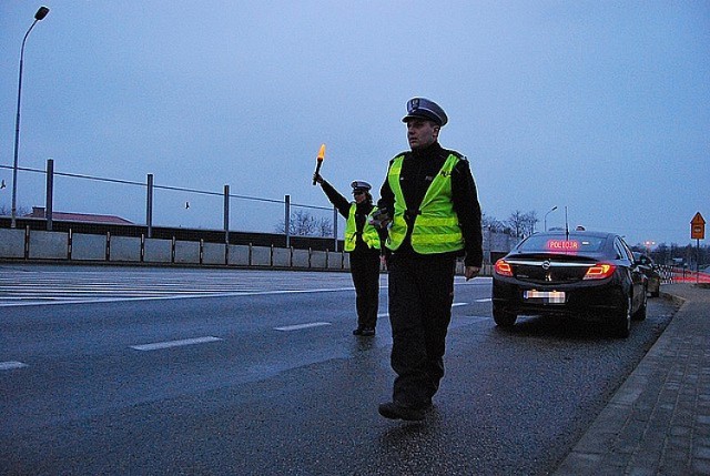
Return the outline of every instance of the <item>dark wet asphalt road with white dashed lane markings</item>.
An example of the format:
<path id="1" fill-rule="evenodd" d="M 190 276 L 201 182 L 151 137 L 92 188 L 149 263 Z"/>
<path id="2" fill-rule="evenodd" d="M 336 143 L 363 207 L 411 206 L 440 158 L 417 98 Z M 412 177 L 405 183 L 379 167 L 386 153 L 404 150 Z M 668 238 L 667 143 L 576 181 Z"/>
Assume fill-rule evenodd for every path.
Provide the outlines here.
<path id="1" fill-rule="evenodd" d="M 490 278 L 456 283 L 435 408 L 403 423 L 384 275 L 367 338 L 344 273 L 0 266 L 0 474 L 544 475 L 674 312 L 500 331 Z"/>

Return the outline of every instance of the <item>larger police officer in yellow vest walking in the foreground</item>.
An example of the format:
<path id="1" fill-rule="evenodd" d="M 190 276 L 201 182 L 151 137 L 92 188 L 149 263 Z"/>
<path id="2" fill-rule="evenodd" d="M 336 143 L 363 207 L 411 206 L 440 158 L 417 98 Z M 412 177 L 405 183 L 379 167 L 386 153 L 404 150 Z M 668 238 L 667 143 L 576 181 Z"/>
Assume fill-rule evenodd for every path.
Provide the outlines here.
<path id="1" fill-rule="evenodd" d="M 467 280 L 483 263 L 480 205 L 468 161 L 438 143 L 447 121 L 435 102 L 408 101 L 403 122 L 412 150 L 389 161 L 377 203 L 387 215 L 382 224 L 388 227 L 390 363 L 397 374 L 392 401 L 378 409 L 393 419 L 423 419 L 432 407 L 444 376 L 456 257 L 465 256 Z"/>

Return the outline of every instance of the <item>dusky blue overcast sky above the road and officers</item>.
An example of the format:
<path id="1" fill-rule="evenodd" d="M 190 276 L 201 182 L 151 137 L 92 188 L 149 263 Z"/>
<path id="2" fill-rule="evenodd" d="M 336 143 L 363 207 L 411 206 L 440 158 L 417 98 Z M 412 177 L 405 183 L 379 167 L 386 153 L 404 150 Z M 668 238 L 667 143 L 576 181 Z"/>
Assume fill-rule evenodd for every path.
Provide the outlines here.
<path id="1" fill-rule="evenodd" d="M 331 183 L 377 199 L 415 95 L 447 112 L 439 141 L 468 156 L 487 215 L 535 211 L 541 229 L 567 207 L 571 226 L 683 245 L 696 212 L 710 219 L 709 1 L 2 0 L 0 165 L 41 4 L 20 166 L 215 193 L 158 191 L 158 224 L 221 227 L 225 184 L 327 207 L 321 143 Z M 19 176 L 18 205 L 42 205 L 43 178 Z M 62 178 L 54 210 L 141 223 L 144 195 Z M 278 203 L 231 207 L 233 230 L 283 221 Z"/>

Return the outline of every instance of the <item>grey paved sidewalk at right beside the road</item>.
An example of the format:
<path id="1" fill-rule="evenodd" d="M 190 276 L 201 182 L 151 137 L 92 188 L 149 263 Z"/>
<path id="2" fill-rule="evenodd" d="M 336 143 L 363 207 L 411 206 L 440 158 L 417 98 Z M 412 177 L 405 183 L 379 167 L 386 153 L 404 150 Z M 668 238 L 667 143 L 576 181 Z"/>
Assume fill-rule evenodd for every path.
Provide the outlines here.
<path id="1" fill-rule="evenodd" d="M 710 286 L 661 295 L 681 307 L 556 475 L 710 475 Z"/>

